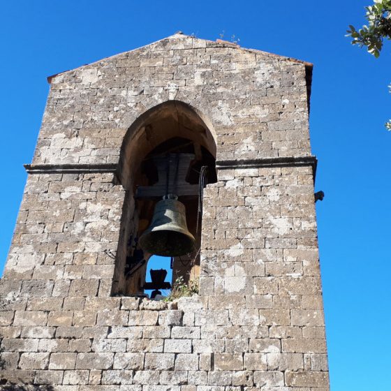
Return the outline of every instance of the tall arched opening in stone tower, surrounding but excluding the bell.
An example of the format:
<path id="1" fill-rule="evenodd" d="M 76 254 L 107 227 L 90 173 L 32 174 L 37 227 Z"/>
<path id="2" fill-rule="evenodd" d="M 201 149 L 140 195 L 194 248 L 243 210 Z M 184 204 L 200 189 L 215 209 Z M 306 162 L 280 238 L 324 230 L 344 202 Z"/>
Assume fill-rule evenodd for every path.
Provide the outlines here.
<path id="1" fill-rule="evenodd" d="M 173 195 L 184 205 L 187 230 L 195 242 L 191 251 L 172 256 L 168 263 L 172 270 L 167 270 L 172 278 L 161 287 L 169 289 L 178 278 L 185 283 L 198 278 L 202 189 L 216 182 L 215 161 L 213 128 L 186 103 L 162 103 L 141 115 L 128 129 L 117 173 L 126 189 L 126 200 L 113 294 L 145 295 L 145 290 L 158 286 L 154 279 L 146 283 L 148 261 L 154 253 L 146 251 L 139 239 L 152 222 L 156 203 Z"/>

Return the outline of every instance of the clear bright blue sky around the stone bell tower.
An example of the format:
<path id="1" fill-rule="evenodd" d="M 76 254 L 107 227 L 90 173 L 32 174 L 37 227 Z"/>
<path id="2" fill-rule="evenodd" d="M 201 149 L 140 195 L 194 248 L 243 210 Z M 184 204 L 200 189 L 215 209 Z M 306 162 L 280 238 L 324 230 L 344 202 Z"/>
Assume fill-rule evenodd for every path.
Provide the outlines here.
<path id="1" fill-rule="evenodd" d="M 333 391 L 391 390 L 391 45 L 376 60 L 348 24 L 371 0 L 5 1 L 0 13 L 0 260 L 13 233 L 46 77 L 175 31 L 314 64 L 311 143 Z"/>

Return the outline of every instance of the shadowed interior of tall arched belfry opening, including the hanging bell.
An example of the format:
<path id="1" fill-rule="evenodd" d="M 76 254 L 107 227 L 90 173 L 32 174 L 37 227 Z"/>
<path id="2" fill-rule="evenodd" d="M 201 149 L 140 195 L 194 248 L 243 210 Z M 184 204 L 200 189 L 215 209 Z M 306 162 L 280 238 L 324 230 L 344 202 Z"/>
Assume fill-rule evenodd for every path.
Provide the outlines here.
<path id="1" fill-rule="evenodd" d="M 131 168 L 124 169 L 131 171 L 133 182 L 125 184 L 114 294 L 145 295 L 149 289 L 156 293 L 170 289 L 179 276 L 187 282 L 200 273 L 202 191 L 216 182 L 215 145 L 190 108 L 165 106 L 158 115 L 156 110 L 147 112 L 142 126 L 138 124 L 138 131 L 148 134 L 145 142 L 137 138 L 138 161 L 129 154 Z M 157 145 L 155 138 L 161 141 Z M 121 173 L 119 178 L 124 184 Z M 165 281 L 167 270 L 152 270 L 152 282 L 146 282 L 152 255 L 171 257 L 172 281 Z"/>

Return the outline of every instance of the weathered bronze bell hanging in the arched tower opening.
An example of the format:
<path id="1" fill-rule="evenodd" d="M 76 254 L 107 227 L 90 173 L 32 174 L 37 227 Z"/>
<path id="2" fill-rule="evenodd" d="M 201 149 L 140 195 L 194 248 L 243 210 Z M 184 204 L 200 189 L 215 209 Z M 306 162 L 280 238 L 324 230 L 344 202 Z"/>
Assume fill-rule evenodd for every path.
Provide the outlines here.
<path id="1" fill-rule="evenodd" d="M 194 249 L 195 239 L 186 225 L 186 209 L 182 202 L 163 198 L 154 210 L 151 225 L 138 241 L 147 253 L 157 256 L 183 256 Z"/>

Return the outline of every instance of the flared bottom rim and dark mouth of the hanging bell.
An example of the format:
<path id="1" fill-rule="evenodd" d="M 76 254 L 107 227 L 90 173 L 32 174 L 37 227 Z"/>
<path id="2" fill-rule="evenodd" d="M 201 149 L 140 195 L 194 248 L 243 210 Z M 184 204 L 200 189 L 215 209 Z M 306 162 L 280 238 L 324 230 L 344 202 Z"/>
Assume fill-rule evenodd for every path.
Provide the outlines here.
<path id="1" fill-rule="evenodd" d="M 156 256 L 184 256 L 194 250 L 194 237 L 190 235 L 172 230 L 152 230 L 140 237 L 140 246 Z"/>

